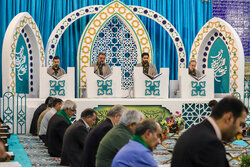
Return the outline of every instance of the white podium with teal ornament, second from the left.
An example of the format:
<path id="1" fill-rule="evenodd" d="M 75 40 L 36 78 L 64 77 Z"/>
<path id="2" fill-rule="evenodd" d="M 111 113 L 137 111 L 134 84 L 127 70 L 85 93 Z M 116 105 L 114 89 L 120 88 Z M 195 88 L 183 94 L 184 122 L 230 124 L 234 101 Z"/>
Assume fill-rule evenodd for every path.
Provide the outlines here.
<path id="1" fill-rule="evenodd" d="M 94 67 L 88 67 L 87 97 L 122 97 L 121 95 L 121 67 L 113 67 L 113 71 L 106 77 L 94 73 Z"/>

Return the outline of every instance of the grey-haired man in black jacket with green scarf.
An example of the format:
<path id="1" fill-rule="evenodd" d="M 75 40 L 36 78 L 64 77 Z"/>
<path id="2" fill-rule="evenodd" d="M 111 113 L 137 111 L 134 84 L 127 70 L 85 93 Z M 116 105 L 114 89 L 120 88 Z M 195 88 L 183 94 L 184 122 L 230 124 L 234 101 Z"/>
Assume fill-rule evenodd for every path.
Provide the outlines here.
<path id="1" fill-rule="evenodd" d="M 66 129 L 72 124 L 70 118 L 76 113 L 76 104 L 71 100 L 63 103 L 62 109 L 50 120 L 46 133 L 46 145 L 52 157 L 60 157 L 62 152 L 63 136 Z"/>

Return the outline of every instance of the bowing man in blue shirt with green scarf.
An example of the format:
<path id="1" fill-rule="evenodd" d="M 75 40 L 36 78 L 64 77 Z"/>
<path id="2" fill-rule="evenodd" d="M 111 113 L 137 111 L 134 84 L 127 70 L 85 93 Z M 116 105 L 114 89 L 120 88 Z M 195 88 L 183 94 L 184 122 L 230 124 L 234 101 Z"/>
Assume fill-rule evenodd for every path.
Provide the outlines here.
<path id="1" fill-rule="evenodd" d="M 158 167 L 152 151 L 161 143 L 161 131 L 155 120 L 141 121 L 129 143 L 116 154 L 111 167 Z"/>

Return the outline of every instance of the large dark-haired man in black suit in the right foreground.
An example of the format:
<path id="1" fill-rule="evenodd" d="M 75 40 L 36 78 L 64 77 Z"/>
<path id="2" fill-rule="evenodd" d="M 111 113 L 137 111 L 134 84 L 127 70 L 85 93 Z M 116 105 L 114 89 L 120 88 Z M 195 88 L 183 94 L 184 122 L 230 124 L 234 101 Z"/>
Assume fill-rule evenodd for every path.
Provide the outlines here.
<path id="1" fill-rule="evenodd" d="M 210 117 L 188 129 L 178 139 L 171 167 L 229 167 L 222 141 L 241 133 L 248 109 L 235 97 L 223 98 Z"/>

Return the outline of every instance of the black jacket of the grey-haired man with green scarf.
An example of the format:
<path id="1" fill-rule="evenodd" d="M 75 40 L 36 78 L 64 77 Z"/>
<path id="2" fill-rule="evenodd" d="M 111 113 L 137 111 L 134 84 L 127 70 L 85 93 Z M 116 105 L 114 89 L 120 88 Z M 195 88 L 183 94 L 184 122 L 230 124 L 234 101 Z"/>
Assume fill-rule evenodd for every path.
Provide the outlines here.
<path id="1" fill-rule="evenodd" d="M 67 120 L 58 114 L 55 114 L 50 119 L 46 137 L 48 152 L 51 156 L 61 156 L 63 136 L 68 127 L 69 123 Z"/>

